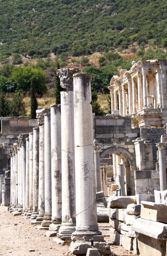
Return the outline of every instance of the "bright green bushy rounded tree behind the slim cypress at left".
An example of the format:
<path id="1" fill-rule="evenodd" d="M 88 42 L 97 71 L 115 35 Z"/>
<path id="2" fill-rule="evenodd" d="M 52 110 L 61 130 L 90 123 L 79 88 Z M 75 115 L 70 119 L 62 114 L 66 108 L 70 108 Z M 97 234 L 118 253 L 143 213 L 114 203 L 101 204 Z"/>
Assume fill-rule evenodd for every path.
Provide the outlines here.
<path id="1" fill-rule="evenodd" d="M 17 89 L 21 92 L 30 91 L 32 83 L 34 84 L 35 93 L 38 95 L 47 91 L 45 72 L 40 67 L 14 67 L 12 79 L 17 82 Z"/>

